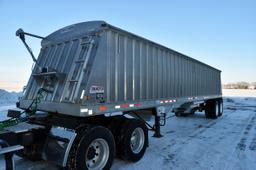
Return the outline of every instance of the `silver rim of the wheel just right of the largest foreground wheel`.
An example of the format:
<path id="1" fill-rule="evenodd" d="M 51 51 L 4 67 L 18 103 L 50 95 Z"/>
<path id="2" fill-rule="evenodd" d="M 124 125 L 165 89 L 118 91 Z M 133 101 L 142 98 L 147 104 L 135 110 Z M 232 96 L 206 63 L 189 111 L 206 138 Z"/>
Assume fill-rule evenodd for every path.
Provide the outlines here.
<path id="1" fill-rule="evenodd" d="M 130 147 L 133 153 L 139 153 L 145 142 L 144 131 L 142 128 L 138 127 L 134 129 L 132 132 L 131 140 L 130 140 Z"/>

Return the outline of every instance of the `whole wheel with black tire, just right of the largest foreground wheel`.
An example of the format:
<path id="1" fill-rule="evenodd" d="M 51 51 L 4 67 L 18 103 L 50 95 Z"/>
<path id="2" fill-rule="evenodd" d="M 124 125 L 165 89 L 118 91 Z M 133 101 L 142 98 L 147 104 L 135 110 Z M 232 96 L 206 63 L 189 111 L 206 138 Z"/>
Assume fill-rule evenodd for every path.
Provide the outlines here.
<path id="1" fill-rule="evenodd" d="M 129 119 L 121 130 L 119 151 L 125 160 L 139 161 L 148 146 L 148 128 L 145 123 L 135 119 Z"/>

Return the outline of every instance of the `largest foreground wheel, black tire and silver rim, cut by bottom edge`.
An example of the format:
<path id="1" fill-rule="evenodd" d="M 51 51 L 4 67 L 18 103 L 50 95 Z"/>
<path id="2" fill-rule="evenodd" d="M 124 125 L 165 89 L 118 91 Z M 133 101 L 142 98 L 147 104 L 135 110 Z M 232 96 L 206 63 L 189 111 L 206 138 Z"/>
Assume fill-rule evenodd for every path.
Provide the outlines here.
<path id="1" fill-rule="evenodd" d="M 110 169 L 115 155 L 112 133 L 96 126 L 79 134 L 69 154 L 67 169 Z"/>

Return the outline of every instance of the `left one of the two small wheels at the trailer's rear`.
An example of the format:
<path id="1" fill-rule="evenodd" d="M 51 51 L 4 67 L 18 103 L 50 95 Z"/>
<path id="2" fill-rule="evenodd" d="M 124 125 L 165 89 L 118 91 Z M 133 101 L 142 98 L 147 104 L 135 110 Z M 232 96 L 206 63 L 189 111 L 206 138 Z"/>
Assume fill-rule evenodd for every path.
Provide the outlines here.
<path id="1" fill-rule="evenodd" d="M 217 119 L 219 114 L 219 104 L 217 100 L 208 100 L 205 105 L 205 117 L 208 119 Z"/>

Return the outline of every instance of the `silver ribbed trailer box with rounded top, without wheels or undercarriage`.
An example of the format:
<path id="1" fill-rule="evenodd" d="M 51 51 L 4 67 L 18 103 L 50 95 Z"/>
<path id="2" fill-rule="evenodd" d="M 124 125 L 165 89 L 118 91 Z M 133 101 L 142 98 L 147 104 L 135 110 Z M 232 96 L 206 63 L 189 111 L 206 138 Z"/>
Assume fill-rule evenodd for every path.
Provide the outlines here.
<path id="1" fill-rule="evenodd" d="M 20 108 L 40 88 L 41 111 L 94 116 L 221 97 L 220 71 L 103 21 L 60 29 L 42 40 Z"/>

